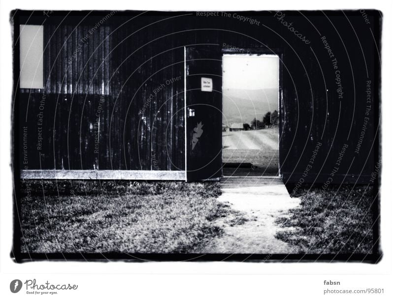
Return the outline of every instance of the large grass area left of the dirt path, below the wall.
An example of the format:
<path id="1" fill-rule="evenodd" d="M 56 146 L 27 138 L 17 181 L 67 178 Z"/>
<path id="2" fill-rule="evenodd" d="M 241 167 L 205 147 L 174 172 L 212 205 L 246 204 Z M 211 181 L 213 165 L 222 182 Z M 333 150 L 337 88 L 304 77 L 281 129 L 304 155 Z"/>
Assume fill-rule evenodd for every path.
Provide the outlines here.
<path id="1" fill-rule="evenodd" d="M 22 181 L 22 252 L 198 252 L 241 212 L 218 182 Z M 43 193 L 45 190 L 45 193 Z"/>

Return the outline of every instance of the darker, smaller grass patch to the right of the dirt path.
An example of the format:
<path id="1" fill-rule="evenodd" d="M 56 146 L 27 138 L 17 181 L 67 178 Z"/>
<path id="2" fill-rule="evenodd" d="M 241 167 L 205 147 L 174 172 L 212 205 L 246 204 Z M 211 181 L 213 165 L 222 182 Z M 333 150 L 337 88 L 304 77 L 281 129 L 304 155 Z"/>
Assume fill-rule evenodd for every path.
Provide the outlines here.
<path id="1" fill-rule="evenodd" d="M 308 254 L 372 253 L 372 187 L 304 188 L 300 207 L 276 220 L 283 230 L 276 238 Z M 376 202 L 375 202 L 376 204 Z"/>

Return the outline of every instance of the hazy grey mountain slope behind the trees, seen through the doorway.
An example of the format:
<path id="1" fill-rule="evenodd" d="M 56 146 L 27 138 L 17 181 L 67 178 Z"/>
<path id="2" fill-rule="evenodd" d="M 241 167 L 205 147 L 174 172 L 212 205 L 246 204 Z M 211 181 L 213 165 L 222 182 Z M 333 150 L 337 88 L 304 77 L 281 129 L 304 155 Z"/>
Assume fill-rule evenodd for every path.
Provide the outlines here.
<path id="1" fill-rule="evenodd" d="M 278 109 L 278 90 L 223 90 L 223 123 L 250 123 Z"/>

